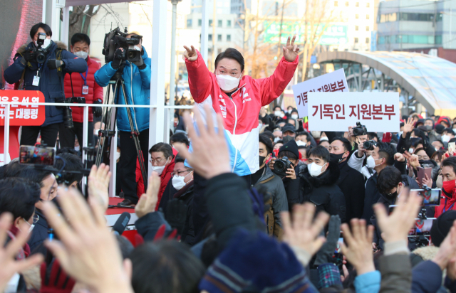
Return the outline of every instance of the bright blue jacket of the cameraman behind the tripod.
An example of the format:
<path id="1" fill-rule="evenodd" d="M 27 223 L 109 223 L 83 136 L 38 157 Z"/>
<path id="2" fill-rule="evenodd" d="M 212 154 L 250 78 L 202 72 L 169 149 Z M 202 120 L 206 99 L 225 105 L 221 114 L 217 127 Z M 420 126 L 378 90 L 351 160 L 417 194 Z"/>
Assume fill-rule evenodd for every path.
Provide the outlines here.
<path id="1" fill-rule="evenodd" d="M 150 105 L 150 58 L 147 56 L 144 47 L 142 47 L 142 61 L 145 64 L 144 69 L 139 69 L 135 64 L 125 61 L 122 78 L 125 82 L 128 105 Z M 114 74 L 117 72 L 111 63 L 112 62 L 103 65 L 103 67 L 95 73 L 95 82 L 101 87 L 107 86 L 110 79 L 113 78 Z M 132 92 L 134 97 L 133 100 L 131 98 Z M 118 97 L 114 97 L 114 99 L 115 105 L 125 105 L 125 98 L 123 97 L 122 91 L 120 91 Z M 130 110 L 133 119 L 133 128 L 137 129 L 138 132 L 148 129 L 149 108 L 130 108 Z M 131 132 L 126 108 L 118 108 L 117 111 L 117 128 L 122 132 Z"/>

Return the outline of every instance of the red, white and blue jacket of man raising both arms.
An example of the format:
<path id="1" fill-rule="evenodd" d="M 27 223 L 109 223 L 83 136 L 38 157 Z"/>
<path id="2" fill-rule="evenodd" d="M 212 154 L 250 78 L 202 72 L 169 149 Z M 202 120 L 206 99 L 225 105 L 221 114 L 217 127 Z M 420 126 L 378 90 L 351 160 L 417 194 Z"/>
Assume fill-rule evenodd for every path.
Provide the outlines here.
<path id="1" fill-rule="evenodd" d="M 195 61 L 185 60 L 195 105 L 202 113 L 204 105 L 209 105 L 213 116 L 222 114 L 232 172 L 239 176 L 254 174 L 259 169 L 259 110 L 284 92 L 293 78 L 299 58 L 293 62 L 282 58 L 269 78 L 242 76 L 238 89 L 229 97 L 220 89 L 216 75 L 207 70 L 201 54 L 198 52 L 197 55 Z"/>

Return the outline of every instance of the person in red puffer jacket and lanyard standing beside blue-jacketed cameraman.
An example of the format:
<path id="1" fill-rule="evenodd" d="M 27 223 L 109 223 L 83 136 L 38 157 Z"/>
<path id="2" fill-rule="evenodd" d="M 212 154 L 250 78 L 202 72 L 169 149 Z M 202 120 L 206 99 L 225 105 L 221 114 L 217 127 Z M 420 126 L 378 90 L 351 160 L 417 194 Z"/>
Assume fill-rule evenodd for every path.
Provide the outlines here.
<path id="1" fill-rule="evenodd" d="M 85 73 L 72 73 L 65 75 L 65 97 L 83 97 L 87 104 L 103 103 L 103 87 L 95 82 L 94 74 L 100 69 L 100 64 L 88 56 L 90 50 L 90 38 L 84 33 L 75 33 L 71 37 L 71 52 L 79 58 L 86 60 L 88 69 Z M 60 144 L 61 147 L 74 148 L 75 134 L 82 146 L 83 142 L 83 107 L 71 107 L 73 111 L 73 129 L 68 129 L 61 124 Z M 88 144 L 93 143 L 93 116 L 100 117 L 101 107 L 88 109 Z"/>

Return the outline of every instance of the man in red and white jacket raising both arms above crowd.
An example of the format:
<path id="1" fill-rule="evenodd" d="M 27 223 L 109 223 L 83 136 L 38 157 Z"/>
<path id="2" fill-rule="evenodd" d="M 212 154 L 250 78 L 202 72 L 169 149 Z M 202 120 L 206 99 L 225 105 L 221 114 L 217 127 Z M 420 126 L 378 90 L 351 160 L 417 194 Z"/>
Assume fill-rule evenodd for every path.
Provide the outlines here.
<path id="1" fill-rule="evenodd" d="M 291 42 L 288 38 L 283 47 L 284 58 L 274 74 L 260 79 L 244 75 L 244 57 L 236 49 L 228 48 L 220 53 L 211 73 L 201 54 L 193 46 L 185 47 L 192 97 L 202 114 L 204 105 L 210 105 L 213 114 L 222 114 L 232 172 L 239 176 L 249 176 L 259 169 L 259 110 L 279 97 L 293 78 L 299 61 L 295 38 Z"/>

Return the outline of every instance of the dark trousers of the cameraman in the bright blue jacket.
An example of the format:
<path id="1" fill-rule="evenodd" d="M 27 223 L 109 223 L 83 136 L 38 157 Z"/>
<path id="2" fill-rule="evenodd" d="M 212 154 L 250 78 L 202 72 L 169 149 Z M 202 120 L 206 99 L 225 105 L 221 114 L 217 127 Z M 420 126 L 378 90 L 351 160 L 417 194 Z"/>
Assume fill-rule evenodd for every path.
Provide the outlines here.
<path id="1" fill-rule="evenodd" d="M 142 156 L 144 157 L 145 173 L 147 174 L 148 151 L 149 151 L 149 129 L 142 130 L 140 132 L 140 146 Z M 125 195 L 126 199 L 129 199 L 133 203 L 138 203 L 138 195 L 136 194 L 136 159 L 138 154 L 135 148 L 135 142 L 130 132 L 120 132 L 120 169 L 118 172 L 122 172 L 120 179 L 120 187 Z M 147 188 L 147 178 L 144 182 L 144 188 Z"/>

